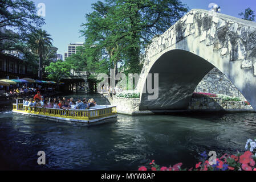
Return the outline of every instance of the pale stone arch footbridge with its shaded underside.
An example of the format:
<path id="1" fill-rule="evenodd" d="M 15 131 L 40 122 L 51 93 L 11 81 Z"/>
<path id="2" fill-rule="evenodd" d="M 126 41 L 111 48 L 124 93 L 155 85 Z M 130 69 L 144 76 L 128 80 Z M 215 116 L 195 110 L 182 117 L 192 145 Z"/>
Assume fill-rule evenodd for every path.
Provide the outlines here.
<path id="1" fill-rule="evenodd" d="M 137 84 L 140 110 L 187 109 L 194 89 L 214 67 L 256 110 L 256 23 L 191 10 L 149 45 Z M 143 93 L 149 73 L 159 73 L 156 100 Z"/>

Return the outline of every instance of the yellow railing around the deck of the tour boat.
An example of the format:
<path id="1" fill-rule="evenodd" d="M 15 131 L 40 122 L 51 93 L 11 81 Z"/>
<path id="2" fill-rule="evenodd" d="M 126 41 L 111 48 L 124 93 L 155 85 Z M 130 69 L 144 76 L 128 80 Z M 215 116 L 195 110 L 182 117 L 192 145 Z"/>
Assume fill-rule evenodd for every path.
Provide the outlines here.
<path id="1" fill-rule="evenodd" d="M 95 109 L 85 110 L 53 109 L 48 107 L 23 106 L 23 104 L 13 104 L 13 110 L 23 111 L 25 113 L 81 120 L 98 119 L 108 117 L 117 113 L 116 106 L 100 106 L 99 108 L 94 108 Z"/>

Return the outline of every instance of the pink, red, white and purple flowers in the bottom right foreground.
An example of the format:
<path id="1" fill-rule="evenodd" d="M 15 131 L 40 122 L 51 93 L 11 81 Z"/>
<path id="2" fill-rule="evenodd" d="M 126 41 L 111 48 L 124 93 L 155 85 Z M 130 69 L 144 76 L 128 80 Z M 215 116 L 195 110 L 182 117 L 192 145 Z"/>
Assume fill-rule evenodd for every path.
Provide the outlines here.
<path id="1" fill-rule="evenodd" d="M 237 155 L 224 154 L 216 159 L 215 164 L 207 160 L 208 155 L 204 152 L 200 154 L 202 156 L 201 161 L 192 168 L 182 169 L 182 163 L 161 167 L 155 163 L 155 160 L 152 160 L 149 163 L 150 167 L 141 166 L 139 171 L 147 171 L 148 169 L 151 169 L 151 171 L 256 171 L 256 139 L 254 141 L 248 139 L 245 149 L 246 151 L 243 154 L 239 152 Z"/>

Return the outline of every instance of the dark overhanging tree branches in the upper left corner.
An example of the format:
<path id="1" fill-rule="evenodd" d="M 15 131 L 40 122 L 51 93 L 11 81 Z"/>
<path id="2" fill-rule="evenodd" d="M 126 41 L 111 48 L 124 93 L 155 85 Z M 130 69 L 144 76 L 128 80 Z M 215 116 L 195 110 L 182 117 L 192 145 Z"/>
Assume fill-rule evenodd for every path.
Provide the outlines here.
<path id="1" fill-rule="evenodd" d="M 36 15 L 34 2 L 29 0 L 0 1 L 0 52 L 19 51 L 30 55 L 28 41 L 30 34 L 44 24 Z"/>

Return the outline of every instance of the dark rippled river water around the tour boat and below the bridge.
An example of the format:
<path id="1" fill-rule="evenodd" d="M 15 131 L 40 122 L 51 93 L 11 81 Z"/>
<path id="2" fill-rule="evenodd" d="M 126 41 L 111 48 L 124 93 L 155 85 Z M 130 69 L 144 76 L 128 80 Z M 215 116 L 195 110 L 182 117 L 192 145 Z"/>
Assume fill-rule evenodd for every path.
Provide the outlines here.
<path id="1" fill-rule="evenodd" d="M 244 151 L 248 138 L 256 138 L 256 113 L 119 114 L 116 122 L 87 127 L 9 108 L 0 112 L 0 169 L 137 170 L 153 159 L 161 166 L 194 167 L 204 151 L 218 156 Z M 38 151 L 46 153 L 45 166 L 37 164 Z"/>

